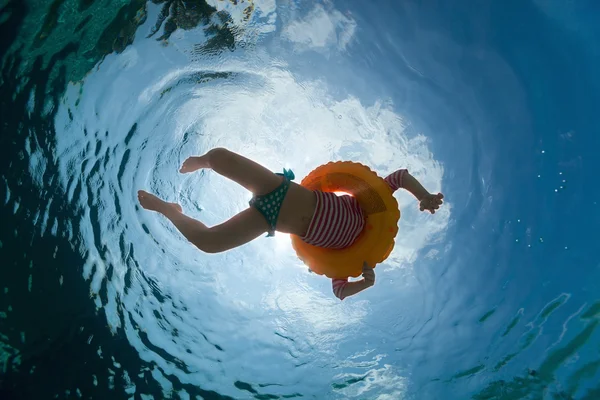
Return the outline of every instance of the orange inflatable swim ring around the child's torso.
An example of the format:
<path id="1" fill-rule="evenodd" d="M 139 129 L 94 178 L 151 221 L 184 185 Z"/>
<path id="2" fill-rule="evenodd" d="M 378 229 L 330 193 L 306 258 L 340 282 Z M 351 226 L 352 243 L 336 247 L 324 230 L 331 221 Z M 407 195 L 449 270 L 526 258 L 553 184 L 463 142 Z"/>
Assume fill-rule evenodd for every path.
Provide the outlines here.
<path id="1" fill-rule="evenodd" d="M 374 268 L 390 255 L 400 210 L 387 183 L 369 167 L 350 161 L 331 162 L 309 173 L 301 185 L 354 196 L 367 216 L 365 229 L 345 249 L 312 246 L 291 235 L 296 254 L 313 272 L 329 278 L 357 277 L 362 273 L 363 262 Z"/>

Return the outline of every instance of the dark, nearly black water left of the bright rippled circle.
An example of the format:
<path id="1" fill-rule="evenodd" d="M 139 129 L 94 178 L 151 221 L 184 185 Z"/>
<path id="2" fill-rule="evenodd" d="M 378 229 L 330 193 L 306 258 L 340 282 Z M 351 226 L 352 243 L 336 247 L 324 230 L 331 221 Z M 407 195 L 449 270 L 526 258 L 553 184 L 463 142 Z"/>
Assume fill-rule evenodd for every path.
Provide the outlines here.
<path id="1" fill-rule="evenodd" d="M 106 317 L 96 311 L 88 286 L 81 281 L 84 258 L 74 251 L 78 238 L 72 233 L 78 228 L 70 222 L 76 220 L 73 215 L 77 211 L 60 201 L 63 193 L 54 182 L 56 166 L 50 162 L 55 157 L 53 121 L 57 108 L 44 111 L 47 102 L 56 105 L 60 101 L 68 83 L 64 62 L 77 56 L 79 45 L 76 41 L 67 43 L 45 66 L 43 57 L 38 56 L 24 76 L 21 67 L 31 60 L 22 58 L 22 49 L 11 54 L 7 51 L 19 35 L 27 12 L 20 0 L 8 2 L 0 11 L 8 15 L 0 24 L 0 309 L 10 310 L 10 324 L 8 319 L 0 319 L 0 331 L 12 348 L 6 371 L 0 375 L 0 399 L 45 399 L 55 395 L 78 398 L 80 393 L 94 393 L 94 398 L 130 398 L 128 389 L 132 384 L 138 393 L 141 389 L 161 398 L 162 389 L 150 378 L 153 366 L 140 360 L 122 330 L 111 333 Z M 97 48 L 108 53 L 122 41 L 120 25 L 130 13 L 130 6 L 117 13 Z M 88 59 L 90 67 L 103 55 Z M 32 90 L 35 101 L 29 112 Z M 49 162 L 42 191 L 28 173 L 27 147 L 41 149 Z M 9 206 L 9 198 L 17 200 L 16 212 Z M 52 216 L 51 221 L 44 221 L 40 214 Z M 44 229 L 52 223 L 56 225 Z M 50 230 L 59 232 L 59 236 Z M 5 288 L 10 290 L 6 292 Z M 117 358 L 124 370 L 145 372 L 126 381 L 122 374 L 115 373 Z M 175 377 L 171 383 L 174 390 L 185 389 L 205 399 L 229 398 L 178 384 Z M 240 385 L 253 390 L 243 382 Z"/>

